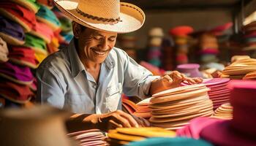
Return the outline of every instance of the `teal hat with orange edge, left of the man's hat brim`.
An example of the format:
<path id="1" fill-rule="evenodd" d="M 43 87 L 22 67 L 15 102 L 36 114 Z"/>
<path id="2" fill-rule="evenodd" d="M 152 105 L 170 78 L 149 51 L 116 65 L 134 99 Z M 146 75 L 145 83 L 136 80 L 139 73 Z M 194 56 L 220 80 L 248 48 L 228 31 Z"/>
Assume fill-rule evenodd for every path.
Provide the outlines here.
<path id="1" fill-rule="evenodd" d="M 56 29 L 61 27 L 61 23 L 59 22 L 58 18 L 56 18 L 56 15 L 45 6 L 41 6 L 37 12 L 37 20 L 50 26 L 53 31 L 56 31 Z"/>

